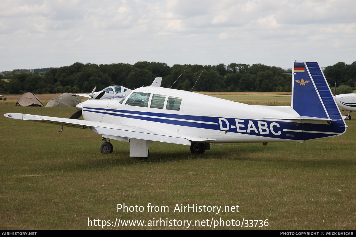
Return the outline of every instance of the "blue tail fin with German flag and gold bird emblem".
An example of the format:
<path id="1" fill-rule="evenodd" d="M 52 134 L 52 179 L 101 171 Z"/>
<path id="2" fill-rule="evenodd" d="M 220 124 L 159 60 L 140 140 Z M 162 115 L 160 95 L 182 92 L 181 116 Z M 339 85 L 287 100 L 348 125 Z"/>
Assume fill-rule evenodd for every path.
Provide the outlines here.
<path id="1" fill-rule="evenodd" d="M 330 119 L 335 133 L 344 133 L 346 130 L 345 121 L 317 61 L 295 60 L 292 69 L 292 108 L 300 116 Z"/>

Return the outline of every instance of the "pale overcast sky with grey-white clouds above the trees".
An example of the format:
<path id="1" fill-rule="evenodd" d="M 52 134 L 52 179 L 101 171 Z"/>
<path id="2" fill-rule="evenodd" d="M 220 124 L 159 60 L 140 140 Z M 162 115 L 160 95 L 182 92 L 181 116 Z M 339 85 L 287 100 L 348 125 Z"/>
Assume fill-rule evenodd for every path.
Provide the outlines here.
<path id="1" fill-rule="evenodd" d="M 356 61 L 355 0 L 1 0 L 0 71 Z"/>

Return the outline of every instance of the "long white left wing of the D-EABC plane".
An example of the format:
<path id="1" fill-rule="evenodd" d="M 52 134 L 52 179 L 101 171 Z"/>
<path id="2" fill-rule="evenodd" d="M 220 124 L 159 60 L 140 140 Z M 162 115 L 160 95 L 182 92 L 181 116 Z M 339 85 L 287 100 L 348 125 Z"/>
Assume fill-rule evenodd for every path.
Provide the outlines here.
<path id="1" fill-rule="evenodd" d="M 155 127 L 138 127 L 130 125 L 119 125 L 112 123 L 95 122 L 89 120 L 78 120 L 69 118 L 48 117 L 33 114 L 7 113 L 5 117 L 31 120 L 35 122 L 63 125 L 67 127 L 88 129 L 98 134 L 119 136 L 124 138 L 135 138 L 150 141 L 162 141 L 168 143 L 176 143 L 183 145 L 191 145 L 192 141 L 212 141 L 215 139 L 193 137 L 193 136 L 179 136 L 167 130 L 162 130 Z"/>

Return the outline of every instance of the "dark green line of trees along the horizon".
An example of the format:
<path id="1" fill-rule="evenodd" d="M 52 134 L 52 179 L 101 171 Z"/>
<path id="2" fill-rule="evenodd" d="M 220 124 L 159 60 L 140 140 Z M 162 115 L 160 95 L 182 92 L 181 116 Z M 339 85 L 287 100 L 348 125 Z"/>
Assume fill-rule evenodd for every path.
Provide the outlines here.
<path id="1" fill-rule="evenodd" d="M 170 67 L 161 62 L 137 62 L 134 65 L 128 63 L 96 65 L 76 62 L 60 68 L 34 69 L 34 73 L 24 70 L 2 73 L 0 94 L 80 93 L 91 92 L 95 86 L 97 90 L 101 90 L 111 85 L 134 89 L 150 86 L 156 77 L 163 78 L 162 87 L 169 88 L 173 85 L 173 89 L 190 91 L 199 76 L 193 91 L 290 92 L 291 73 L 292 70 L 285 71 L 280 67 L 262 64 L 224 65 L 221 63 L 216 66 L 173 65 Z M 338 85 L 355 89 L 356 62 L 351 65 L 337 63 L 326 67 L 324 73 L 332 86 L 332 81 L 337 79 Z"/>

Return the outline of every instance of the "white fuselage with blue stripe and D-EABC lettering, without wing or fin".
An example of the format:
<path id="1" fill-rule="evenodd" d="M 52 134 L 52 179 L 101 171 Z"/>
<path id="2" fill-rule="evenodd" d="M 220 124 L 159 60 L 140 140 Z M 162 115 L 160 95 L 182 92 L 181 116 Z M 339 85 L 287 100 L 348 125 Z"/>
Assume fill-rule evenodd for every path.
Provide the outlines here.
<path id="1" fill-rule="evenodd" d="M 132 93 L 141 93 L 143 101 L 130 103 L 129 94 L 123 101 L 84 102 L 84 119 L 153 127 L 182 137 L 206 138 L 209 143 L 295 142 L 338 135 L 327 120 L 302 123 L 297 120 L 264 119 L 298 117 L 291 107 L 260 107 L 161 87 L 142 87 Z M 155 95 L 161 97 L 162 106 L 154 104 Z M 176 101 L 181 99 L 178 110 L 169 108 L 170 98 L 178 98 Z"/>

